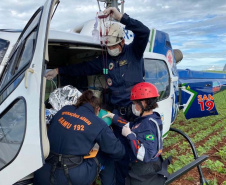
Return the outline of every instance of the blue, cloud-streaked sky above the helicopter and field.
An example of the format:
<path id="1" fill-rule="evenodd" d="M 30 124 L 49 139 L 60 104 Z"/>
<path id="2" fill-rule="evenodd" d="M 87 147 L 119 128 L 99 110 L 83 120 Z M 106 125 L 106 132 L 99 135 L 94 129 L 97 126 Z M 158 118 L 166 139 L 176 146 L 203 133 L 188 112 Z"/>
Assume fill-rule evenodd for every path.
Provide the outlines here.
<path id="1" fill-rule="evenodd" d="M 0 29 L 22 29 L 44 3 L 1 0 Z M 226 64 L 226 0 L 125 0 L 124 10 L 149 28 L 169 34 L 173 49 L 184 56 L 179 69 L 222 70 Z M 50 28 L 71 31 L 94 19 L 97 11 L 96 0 L 61 0 Z"/>

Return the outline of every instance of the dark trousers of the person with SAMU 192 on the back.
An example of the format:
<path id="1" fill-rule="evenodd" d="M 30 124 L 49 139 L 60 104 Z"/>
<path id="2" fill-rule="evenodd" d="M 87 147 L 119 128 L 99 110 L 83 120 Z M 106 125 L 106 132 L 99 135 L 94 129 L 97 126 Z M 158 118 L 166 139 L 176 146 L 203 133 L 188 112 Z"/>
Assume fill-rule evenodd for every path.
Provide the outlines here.
<path id="1" fill-rule="evenodd" d="M 99 151 L 96 158 L 101 163 L 102 169 L 99 173 L 102 185 L 115 185 L 114 160 L 107 154 Z M 50 185 L 51 170 L 53 164 L 46 162 L 42 168 L 34 173 L 34 185 Z M 99 165 L 100 167 L 100 165 Z M 85 159 L 82 164 L 69 168 L 71 183 L 79 185 L 90 185 L 96 179 L 99 168 L 94 159 Z M 62 168 L 56 168 L 54 174 L 54 185 L 68 185 L 68 179 Z"/>

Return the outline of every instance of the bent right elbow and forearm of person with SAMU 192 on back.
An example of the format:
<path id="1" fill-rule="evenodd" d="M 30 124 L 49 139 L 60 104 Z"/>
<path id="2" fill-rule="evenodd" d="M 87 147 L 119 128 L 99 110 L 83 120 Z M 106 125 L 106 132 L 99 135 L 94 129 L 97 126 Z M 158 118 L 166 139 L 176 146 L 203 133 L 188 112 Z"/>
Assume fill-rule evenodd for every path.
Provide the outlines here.
<path id="1" fill-rule="evenodd" d="M 109 154 L 112 159 L 119 160 L 125 155 L 124 146 L 108 126 L 101 130 L 96 142 L 99 144 L 101 151 Z"/>

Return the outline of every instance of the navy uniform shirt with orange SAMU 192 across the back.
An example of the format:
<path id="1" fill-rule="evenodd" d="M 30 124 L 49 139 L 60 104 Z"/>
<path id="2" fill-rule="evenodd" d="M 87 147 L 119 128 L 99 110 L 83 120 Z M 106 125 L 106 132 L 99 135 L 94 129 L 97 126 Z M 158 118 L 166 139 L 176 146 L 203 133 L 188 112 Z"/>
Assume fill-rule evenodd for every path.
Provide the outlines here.
<path id="1" fill-rule="evenodd" d="M 95 143 L 112 159 L 120 159 L 125 154 L 124 146 L 107 124 L 94 114 L 89 103 L 78 109 L 68 105 L 58 111 L 51 120 L 48 137 L 50 151 L 58 154 L 85 156 Z"/>

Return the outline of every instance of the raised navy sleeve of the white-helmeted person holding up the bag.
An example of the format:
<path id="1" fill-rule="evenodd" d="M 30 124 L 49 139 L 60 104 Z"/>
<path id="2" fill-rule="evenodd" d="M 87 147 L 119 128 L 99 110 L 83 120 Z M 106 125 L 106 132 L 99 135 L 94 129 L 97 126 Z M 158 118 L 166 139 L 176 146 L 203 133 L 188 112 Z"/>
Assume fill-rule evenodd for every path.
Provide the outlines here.
<path id="1" fill-rule="evenodd" d="M 127 14 L 123 14 L 120 22 L 126 26 L 125 29 L 131 30 L 134 33 L 134 39 L 130 45 L 135 56 L 138 59 L 141 58 L 148 43 L 150 29 Z"/>

